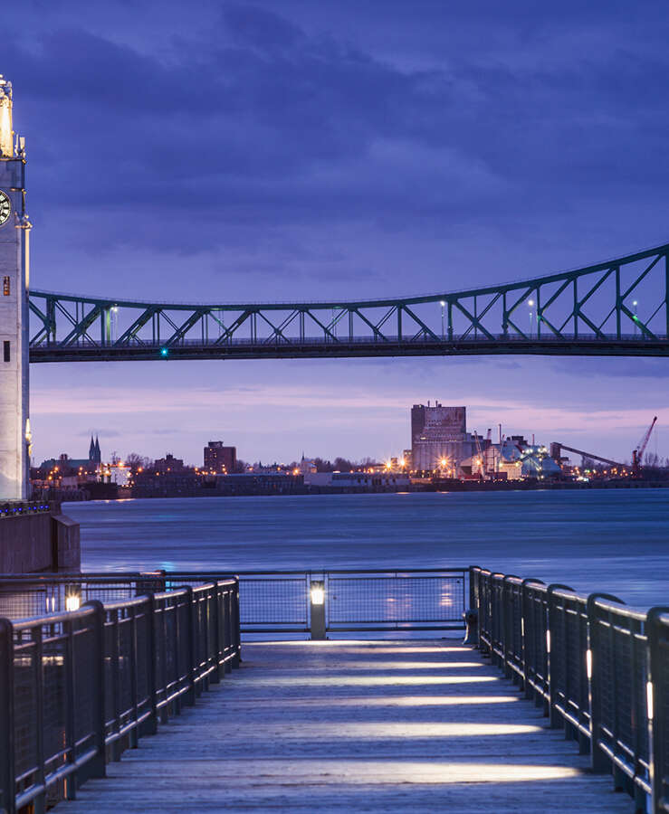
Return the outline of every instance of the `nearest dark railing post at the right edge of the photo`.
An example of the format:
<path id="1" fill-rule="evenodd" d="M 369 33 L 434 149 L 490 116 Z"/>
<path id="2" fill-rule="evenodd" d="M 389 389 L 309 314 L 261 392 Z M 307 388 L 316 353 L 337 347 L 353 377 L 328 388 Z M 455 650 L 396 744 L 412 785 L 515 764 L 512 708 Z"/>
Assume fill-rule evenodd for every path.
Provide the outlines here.
<path id="1" fill-rule="evenodd" d="M 661 653 L 661 630 L 664 622 L 660 619 L 669 613 L 669 608 L 651 608 L 645 620 L 646 652 L 648 658 L 648 684 L 646 686 L 648 705 L 648 765 L 651 784 L 651 814 L 666 811 L 664 795 L 664 765 L 669 762 L 669 754 L 664 754 L 669 721 L 664 719 L 663 687 L 660 680 L 664 675 Z M 664 644 L 667 647 L 667 643 Z M 665 657 L 666 658 L 666 657 Z M 664 688 L 666 690 L 666 688 Z"/>

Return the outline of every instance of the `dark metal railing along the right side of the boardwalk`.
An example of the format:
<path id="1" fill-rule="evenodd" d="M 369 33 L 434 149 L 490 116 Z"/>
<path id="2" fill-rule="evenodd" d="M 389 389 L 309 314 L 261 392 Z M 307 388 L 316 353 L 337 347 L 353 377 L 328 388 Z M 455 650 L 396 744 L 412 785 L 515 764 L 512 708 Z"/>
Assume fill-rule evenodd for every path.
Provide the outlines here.
<path id="1" fill-rule="evenodd" d="M 474 566 L 479 647 L 611 772 L 636 809 L 669 812 L 669 609 Z"/>

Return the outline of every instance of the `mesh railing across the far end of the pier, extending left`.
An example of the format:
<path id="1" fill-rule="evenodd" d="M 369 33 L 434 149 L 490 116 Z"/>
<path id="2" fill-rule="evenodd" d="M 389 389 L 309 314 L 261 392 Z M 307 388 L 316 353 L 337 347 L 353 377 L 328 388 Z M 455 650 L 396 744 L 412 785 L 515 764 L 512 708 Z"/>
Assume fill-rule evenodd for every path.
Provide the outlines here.
<path id="1" fill-rule="evenodd" d="M 221 573 L 0 575 L 0 615 L 58 611 L 68 601 L 119 601 Z M 255 571 L 237 573 L 247 634 L 463 629 L 468 569 Z"/>

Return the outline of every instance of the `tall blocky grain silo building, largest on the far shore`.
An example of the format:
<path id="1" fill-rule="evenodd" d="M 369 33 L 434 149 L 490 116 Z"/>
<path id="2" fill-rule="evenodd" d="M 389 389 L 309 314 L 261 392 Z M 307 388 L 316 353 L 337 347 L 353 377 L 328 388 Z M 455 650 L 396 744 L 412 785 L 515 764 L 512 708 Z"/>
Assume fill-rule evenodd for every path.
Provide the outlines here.
<path id="1" fill-rule="evenodd" d="M 471 457 L 473 438 L 467 432 L 466 408 L 444 407 L 435 402 L 411 408 L 411 468 L 437 469 L 446 461 L 449 468 Z"/>

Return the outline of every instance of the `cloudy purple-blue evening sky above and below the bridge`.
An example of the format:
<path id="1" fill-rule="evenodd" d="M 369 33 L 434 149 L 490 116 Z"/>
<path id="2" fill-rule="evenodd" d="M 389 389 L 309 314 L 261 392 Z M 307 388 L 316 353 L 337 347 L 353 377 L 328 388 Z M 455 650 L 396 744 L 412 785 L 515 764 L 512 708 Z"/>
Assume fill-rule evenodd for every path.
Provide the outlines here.
<path id="1" fill-rule="evenodd" d="M 669 240 L 669 17 L 640 0 L 24 0 L 0 72 L 27 137 L 35 288 L 387 297 Z M 33 365 L 38 460 L 386 457 L 408 408 L 628 459 L 663 360 Z"/>

